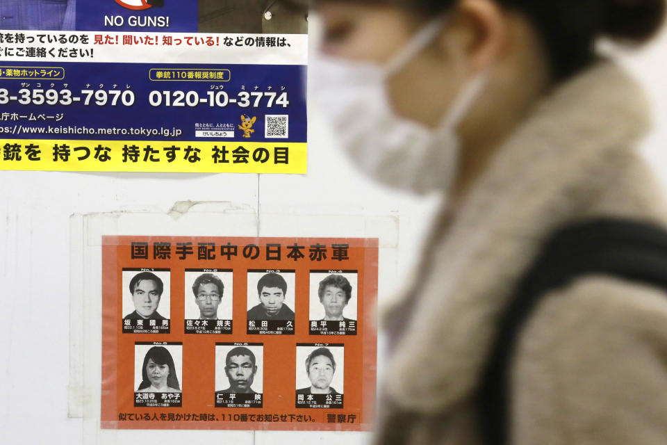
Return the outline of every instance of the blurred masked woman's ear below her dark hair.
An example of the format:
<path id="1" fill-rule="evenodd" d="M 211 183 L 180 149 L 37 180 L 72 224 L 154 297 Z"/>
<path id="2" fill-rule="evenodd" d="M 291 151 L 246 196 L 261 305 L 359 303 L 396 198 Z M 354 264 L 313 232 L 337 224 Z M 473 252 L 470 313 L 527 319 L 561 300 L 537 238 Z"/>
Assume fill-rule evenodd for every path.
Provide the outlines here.
<path id="1" fill-rule="evenodd" d="M 507 38 L 507 17 L 497 1 L 459 0 L 450 17 L 440 40 L 443 51 L 472 72 L 493 65 Z"/>

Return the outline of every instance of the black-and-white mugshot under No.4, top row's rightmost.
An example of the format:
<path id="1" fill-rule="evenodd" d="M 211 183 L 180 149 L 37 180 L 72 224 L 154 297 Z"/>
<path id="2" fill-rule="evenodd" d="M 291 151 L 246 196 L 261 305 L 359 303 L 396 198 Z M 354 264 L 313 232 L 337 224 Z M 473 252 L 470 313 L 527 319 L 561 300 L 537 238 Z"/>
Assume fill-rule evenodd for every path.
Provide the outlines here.
<path id="1" fill-rule="evenodd" d="M 311 272 L 311 321 L 356 321 L 356 273 Z"/>

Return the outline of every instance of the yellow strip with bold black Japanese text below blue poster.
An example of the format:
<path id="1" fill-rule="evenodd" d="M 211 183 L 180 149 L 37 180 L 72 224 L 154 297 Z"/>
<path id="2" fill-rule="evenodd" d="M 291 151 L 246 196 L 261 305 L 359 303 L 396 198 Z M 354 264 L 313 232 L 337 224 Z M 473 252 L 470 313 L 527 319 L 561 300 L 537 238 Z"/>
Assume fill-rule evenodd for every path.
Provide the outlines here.
<path id="1" fill-rule="evenodd" d="M 306 143 L 0 139 L 0 170 L 306 173 Z"/>

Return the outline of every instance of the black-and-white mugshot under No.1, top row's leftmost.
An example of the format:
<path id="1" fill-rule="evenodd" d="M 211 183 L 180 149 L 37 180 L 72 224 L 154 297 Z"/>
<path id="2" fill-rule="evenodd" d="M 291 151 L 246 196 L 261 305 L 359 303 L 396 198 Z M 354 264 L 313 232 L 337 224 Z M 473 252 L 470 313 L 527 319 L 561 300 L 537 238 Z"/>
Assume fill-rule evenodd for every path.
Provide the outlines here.
<path id="1" fill-rule="evenodd" d="M 123 312 L 127 314 L 124 319 L 162 321 L 169 318 L 169 271 L 124 270 L 123 284 L 126 292 Z M 158 312 L 158 307 L 164 315 Z"/>

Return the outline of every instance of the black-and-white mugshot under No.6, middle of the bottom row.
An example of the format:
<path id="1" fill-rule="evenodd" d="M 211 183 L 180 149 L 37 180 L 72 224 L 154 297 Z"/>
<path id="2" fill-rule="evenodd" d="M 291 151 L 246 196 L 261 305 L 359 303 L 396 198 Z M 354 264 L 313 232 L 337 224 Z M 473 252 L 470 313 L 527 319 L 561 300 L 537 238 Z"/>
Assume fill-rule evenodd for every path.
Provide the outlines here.
<path id="1" fill-rule="evenodd" d="M 216 346 L 215 393 L 261 394 L 262 359 L 263 346 Z"/>

